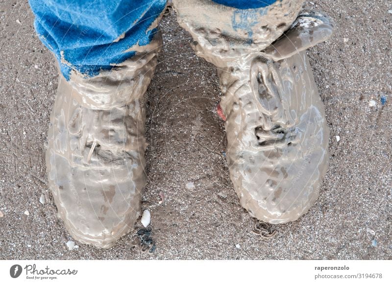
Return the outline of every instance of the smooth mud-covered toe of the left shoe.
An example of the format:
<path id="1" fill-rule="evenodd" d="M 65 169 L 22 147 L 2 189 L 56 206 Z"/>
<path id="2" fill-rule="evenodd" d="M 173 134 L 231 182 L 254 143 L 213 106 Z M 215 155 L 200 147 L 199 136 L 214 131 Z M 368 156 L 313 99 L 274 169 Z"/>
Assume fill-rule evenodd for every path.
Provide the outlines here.
<path id="1" fill-rule="evenodd" d="M 144 185 L 144 174 L 136 178 L 134 164 L 81 168 L 53 150 L 48 155 L 49 187 L 76 240 L 107 248 L 133 229 Z"/>

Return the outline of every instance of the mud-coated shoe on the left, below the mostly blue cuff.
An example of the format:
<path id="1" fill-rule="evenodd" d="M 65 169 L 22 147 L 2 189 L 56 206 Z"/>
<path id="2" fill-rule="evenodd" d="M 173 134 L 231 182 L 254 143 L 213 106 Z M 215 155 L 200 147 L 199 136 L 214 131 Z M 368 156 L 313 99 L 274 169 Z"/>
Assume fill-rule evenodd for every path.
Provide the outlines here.
<path id="1" fill-rule="evenodd" d="M 78 241 L 111 247 L 133 229 L 145 186 L 145 108 L 160 35 L 92 78 L 59 76 L 46 163 L 58 213 Z"/>

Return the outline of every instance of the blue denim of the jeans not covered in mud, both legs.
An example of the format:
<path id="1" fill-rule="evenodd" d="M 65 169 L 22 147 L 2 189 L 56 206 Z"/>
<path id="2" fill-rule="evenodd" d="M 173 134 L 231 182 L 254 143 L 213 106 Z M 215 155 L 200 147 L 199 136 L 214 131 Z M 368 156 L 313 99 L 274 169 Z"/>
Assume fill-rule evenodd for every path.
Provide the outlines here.
<path id="1" fill-rule="evenodd" d="M 239 9 L 275 0 L 214 0 Z M 147 45 L 166 0 L 29 0 L 39 39 L 57 58 L 69 80 L 72 70 L 86 77 L 132 57 L 131 47 Z"/>

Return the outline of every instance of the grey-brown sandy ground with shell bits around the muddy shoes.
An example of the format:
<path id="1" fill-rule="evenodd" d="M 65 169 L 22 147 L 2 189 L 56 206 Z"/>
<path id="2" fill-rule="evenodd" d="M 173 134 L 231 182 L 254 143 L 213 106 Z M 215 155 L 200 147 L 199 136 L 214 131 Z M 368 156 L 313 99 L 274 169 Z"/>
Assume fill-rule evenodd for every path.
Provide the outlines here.
<path id="1" fill-rule="evenodd" d="M 147 92 L 142 206 L 151 211 L 157 246 L 149 255 L 132 245 L 135 232 L 108 250 L 67 249 L 72 237 L 56 215 L 44 162 L 58 73 L 27 1 L 1 1 L 0 259 L 391 259 L 391 2 L 306 7 L 338 26 L 308 51 L 331 128 L 331 162 L 316 205 L 269 241 L 251 233 L 253 220 L 229 179 L 216 71 L 195 56 L 173 14 L 163 19 L 165 46 Z"/>

